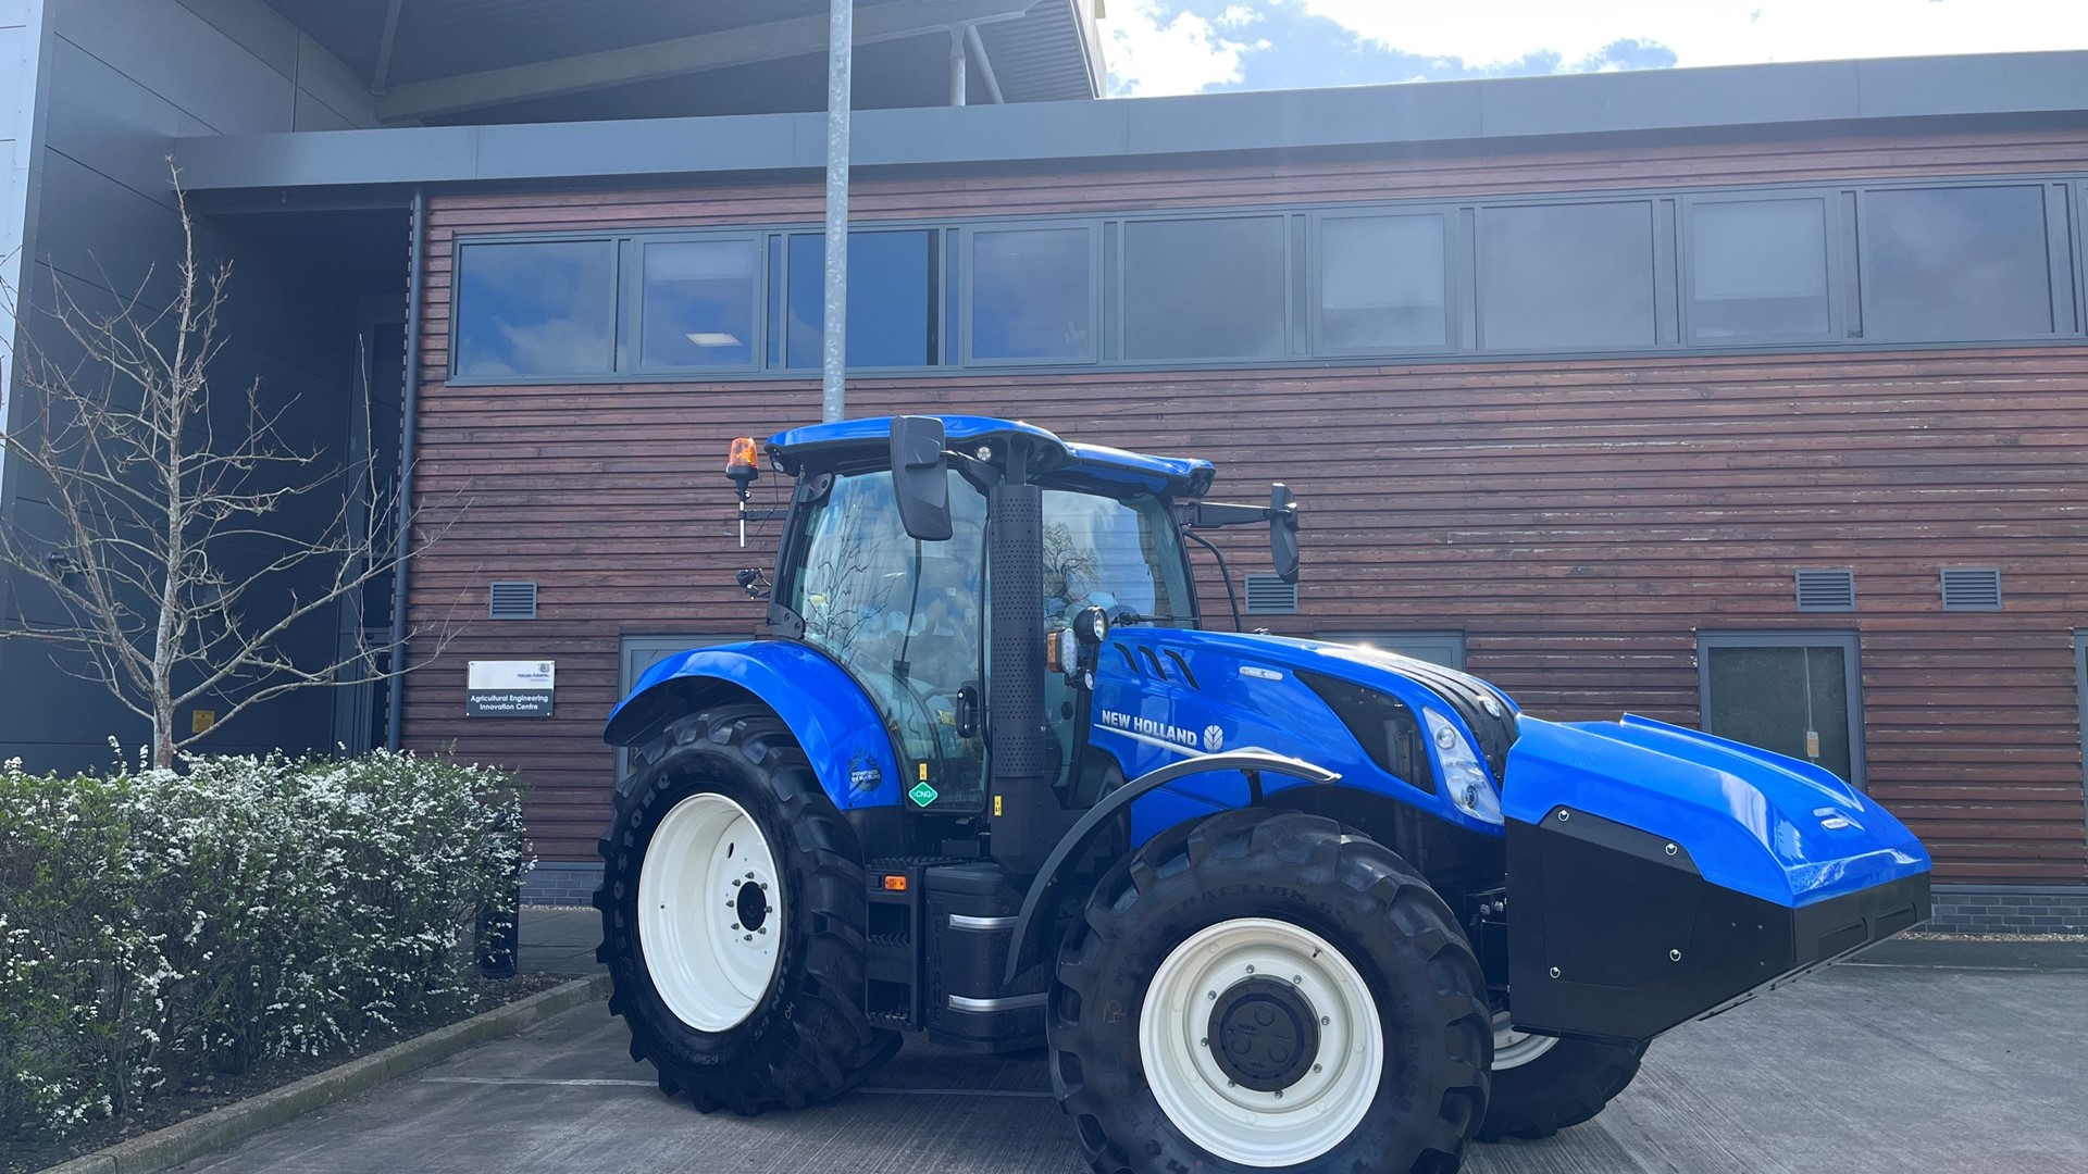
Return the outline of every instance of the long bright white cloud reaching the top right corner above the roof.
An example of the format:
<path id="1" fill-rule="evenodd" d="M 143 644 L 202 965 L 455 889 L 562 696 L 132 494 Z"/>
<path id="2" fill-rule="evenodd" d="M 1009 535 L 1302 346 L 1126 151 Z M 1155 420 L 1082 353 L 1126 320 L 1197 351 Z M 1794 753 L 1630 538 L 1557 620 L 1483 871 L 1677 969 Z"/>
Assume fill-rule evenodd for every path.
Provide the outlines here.
<path id="1" fill-rule="evenodd" d="M 1643 38 L 1679 65 L 2088 48 L 2084 0 L 1259 0 L 1368 42 L 1468 65 L 1553 50 L 1581 61 Z"/>

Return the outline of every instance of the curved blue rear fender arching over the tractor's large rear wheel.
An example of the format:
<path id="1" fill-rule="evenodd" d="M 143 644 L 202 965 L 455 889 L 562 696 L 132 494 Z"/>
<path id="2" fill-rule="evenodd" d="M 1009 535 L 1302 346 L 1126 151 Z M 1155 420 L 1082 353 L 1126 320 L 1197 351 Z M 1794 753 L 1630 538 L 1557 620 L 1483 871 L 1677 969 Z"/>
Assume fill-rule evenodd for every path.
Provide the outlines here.
<path id="1" fill-rule="evenodd" d="M 639 677 L 601 739 L 637 746 L 718 696 L 762 702 L 789 727 L 839 811 L 898 806 L 900 760 L 862 685 L 818 650 L 756 639 L 679 652 Z"/>

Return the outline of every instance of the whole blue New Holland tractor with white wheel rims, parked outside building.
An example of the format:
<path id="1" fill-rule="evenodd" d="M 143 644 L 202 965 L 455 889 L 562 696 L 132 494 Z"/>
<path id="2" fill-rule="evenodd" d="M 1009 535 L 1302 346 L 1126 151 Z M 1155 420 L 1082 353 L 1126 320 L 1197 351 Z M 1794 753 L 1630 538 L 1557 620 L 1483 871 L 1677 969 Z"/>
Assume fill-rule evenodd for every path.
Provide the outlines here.
<path id="1" fill-rule="evenodd" d="M 1100 1172 L 1451 1172 L 1927 917 L 1927 852 L 1819 767 L 1205 627 L 1199 531 L 1265 524 L 1297 574 L 1280 485 L 1205 501 L 1209 462 L 971 416 L 766 455 L 773 637 L 670 656 L 606 729 L 610 1009 L 706 1111 L 925 1032 L 1042 1049 Z"/>

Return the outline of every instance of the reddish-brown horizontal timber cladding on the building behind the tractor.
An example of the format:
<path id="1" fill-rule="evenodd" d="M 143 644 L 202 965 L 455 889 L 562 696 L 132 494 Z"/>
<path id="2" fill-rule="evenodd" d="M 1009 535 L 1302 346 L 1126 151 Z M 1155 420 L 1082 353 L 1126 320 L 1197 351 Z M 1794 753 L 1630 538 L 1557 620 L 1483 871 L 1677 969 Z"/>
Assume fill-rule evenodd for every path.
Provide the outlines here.
<path id="1" fill-rule="evenodd" d="M 2088 165 L 2088 138 L 1637 148 L 1171 175 L 871 182 L 864 215 L 1380 198 L 1804 173 Z M 816 217 L 814 188 L 472 194 L 432 205 L 411 620 L 455 639 L 405 685 L 409 746 L 516 767 L 551 861 L 593 856 L 599 742 L 626 635 L 754 635 L 733 583 L 725 443 L 818 418 L 810 378 L 445 386 L 451 232 Z M 1278 633 L 1462 631 L 1531 712 L 1698 721 L 1698 631 L 1858 631 L 1871 792 L 1956 882 L 2082 884 L 2071 631 L 2088 627 L 2088 347 L 850 380 L 850 414 L 977 412 L 1211 457 L 1213 497 L 1297 489 L 1305 574 Z M 779 487 L 754 487 L 754 506 Z M 447 529 L 445 529 L 447 526 Z M 1259 535 L 1221 535 L 1234 572 Z M 1852 568 L 1856 610 L 1796 610 L 1798 568 Z M 1942 566 L 1998 566 L 2000 612 L 1944 612 Z M 1226 595 L 1203 564 L 1203 606 Z M 539 583 L 495 623 L 487 583 Z M 557 660 L 555 717 L 466 719 L 464 664 Z"/>

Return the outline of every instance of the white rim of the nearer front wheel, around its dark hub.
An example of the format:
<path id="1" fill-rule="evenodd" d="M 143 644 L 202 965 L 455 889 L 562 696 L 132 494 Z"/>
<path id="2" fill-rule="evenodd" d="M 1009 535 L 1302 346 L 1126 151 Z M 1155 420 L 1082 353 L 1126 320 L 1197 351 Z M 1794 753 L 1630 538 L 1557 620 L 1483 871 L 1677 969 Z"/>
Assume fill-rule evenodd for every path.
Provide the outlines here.
<path id="1" fill-rule="evenodd" d="M 1292 984 L 1320 1015 L 1313 1065 L 1282 1095 L 1228 1086 L 1205 1042 L 1217 999 L 1255 978 Z M 1153 973 L 1138 1059 L 1153 1099 L 1188 1141 L 1240 1166 L 1297 1166 L 1340 1145 L 1378 1099 L 1384 1026 L 1363 976 L 1326 938 L 1240 917 L 1199 930 Z"/>

